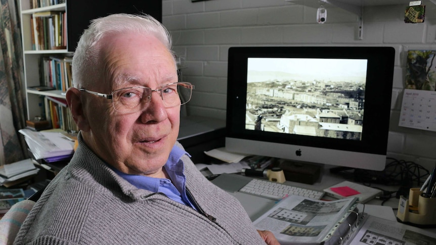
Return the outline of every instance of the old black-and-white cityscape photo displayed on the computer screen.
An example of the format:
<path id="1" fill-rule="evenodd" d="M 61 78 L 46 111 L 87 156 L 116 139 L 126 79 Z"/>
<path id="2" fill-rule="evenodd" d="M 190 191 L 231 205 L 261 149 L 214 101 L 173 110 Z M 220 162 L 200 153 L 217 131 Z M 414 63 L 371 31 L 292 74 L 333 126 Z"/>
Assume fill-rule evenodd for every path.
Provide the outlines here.
<path id="1" fill-rule="evenodd" d="M 245 129 L 361 140 L 367 64 L 248 58 Z"/>

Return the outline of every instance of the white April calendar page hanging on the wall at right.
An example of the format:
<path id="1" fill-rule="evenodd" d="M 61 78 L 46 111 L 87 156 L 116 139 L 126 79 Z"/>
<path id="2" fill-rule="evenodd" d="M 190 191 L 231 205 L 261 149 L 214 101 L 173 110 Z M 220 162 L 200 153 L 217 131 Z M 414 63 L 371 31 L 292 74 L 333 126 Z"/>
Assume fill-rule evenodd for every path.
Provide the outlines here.
<path id="1" fill-rule="evenodd" d="M 404 89 L 399 125 L 436 131 L 436 91 Z"/>

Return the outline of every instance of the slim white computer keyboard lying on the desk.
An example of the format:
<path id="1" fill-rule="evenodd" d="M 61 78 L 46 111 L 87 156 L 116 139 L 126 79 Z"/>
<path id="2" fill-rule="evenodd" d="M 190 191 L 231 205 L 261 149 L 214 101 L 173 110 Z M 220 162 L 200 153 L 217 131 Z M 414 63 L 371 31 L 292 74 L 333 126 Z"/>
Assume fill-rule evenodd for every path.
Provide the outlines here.
<path id="1" fill-rule="evenodd" d="M 301 195 L 306 198 L 319 200 L 324 195 L 324 191 L 295 187 L 261 179 L 252 179 L 239 191 L 273 200 L 281 200 L 287 195 Z"/>

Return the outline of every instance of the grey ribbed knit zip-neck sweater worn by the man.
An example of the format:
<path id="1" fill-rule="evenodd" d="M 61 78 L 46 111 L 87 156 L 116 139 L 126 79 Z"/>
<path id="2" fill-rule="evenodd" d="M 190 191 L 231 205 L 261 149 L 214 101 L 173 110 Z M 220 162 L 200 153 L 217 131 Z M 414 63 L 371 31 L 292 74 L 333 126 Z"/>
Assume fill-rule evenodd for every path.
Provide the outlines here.
<path id="1" fill-rule="evenodd" d="M 84 144 L 52 180 L 14 244 L 265 244 L 240 203 L 183 156 L 197 207 L 138 189 Z M 179 143 L 177 143 L 181 146 Z"/>

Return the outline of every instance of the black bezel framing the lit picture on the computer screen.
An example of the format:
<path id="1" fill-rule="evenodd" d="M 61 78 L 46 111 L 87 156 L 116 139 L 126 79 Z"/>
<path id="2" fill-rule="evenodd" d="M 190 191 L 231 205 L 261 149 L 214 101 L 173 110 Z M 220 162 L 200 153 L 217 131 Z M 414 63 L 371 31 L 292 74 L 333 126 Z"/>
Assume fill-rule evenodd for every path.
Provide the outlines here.
<path id="1" fill-rule="evenodd" d="M 394 72 L 393 47 L 260 46 L 230 47 L 226 137 L 386 155 Z M 367 59 L 361 140 L 324 138 L 245 129 L 248 58 Z M 382 82 L 385 81 L 385 82 Z"/>

